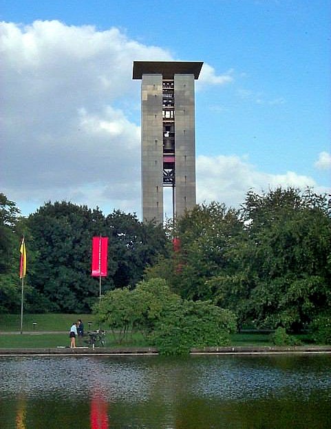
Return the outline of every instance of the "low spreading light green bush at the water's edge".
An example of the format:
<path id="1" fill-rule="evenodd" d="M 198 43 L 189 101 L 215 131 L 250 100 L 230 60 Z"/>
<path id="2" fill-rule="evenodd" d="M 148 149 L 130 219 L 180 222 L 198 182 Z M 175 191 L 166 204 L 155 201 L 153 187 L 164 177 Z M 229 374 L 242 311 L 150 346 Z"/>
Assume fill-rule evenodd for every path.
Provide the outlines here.
<path id="1" fill-rule="evenodd" d="M 189 353 L 192 347 L 228 344 L 235 331 L 235 315 L 210 302 L 182 300 L 162 279 L 138 284 L 136 289 L 109 291 L 94 307 L 118 342 L 129 331 L 140 331 L 164 355 Z"/>

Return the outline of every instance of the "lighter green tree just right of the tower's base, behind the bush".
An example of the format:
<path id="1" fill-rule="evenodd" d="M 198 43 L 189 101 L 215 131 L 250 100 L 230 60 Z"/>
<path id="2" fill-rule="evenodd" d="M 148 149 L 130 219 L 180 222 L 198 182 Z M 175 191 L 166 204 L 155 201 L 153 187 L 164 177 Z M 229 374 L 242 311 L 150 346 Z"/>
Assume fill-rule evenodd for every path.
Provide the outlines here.
<path id="1" fill-rule="evenodd" d="M 181 249 L 175 255 L 174 290 L 189 300 L 213 299 L 209 280 L 228 269 L 228 248 L 241 231 L 239 211 L 224 204 L 211 202 L 187 211 L 176 226 Z"/>

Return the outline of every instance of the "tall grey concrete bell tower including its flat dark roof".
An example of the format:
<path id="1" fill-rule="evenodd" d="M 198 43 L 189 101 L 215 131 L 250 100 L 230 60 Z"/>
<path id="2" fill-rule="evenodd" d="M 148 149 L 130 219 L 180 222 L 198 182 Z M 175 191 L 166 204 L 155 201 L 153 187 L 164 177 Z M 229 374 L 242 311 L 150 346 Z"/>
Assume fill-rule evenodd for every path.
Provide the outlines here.
<path id="1" fill-rule="evenodd" d="M 163 187 L 173 216 L 195 205 L 194 80 L 202 62 L 134 61 L 142 79 L 142 218 L 163 222 Z"/>

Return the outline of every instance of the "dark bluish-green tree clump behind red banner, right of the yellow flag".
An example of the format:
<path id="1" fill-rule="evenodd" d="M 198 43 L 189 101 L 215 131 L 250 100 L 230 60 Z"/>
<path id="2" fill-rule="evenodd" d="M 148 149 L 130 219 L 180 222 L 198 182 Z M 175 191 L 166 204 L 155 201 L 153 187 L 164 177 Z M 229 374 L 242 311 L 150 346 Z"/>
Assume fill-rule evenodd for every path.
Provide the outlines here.
<path id="1" fill-rule="evenodd" d="M 107 236 L 108 273 L 102 292 L 133 287 L 147 264 L 164 251 L 162 228 L 138 222 L 135 215 L 71 202 L 47 202 L 28 218 L 36 258 L 33 264 L 30 311 L 89 312 L 99 293 L 91 276 L 92 237 Z"/>

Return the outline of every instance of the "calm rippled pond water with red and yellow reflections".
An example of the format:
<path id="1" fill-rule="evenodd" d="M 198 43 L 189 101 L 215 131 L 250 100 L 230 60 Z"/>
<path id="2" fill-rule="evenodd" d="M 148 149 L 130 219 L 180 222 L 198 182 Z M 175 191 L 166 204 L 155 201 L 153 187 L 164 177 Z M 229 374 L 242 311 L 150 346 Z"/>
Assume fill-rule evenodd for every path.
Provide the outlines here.
<path id="1" fill-rule="evenodd" d="M 330 370 L 331 355 L 0 357 L 0 428 L 330 428 Z"/>

